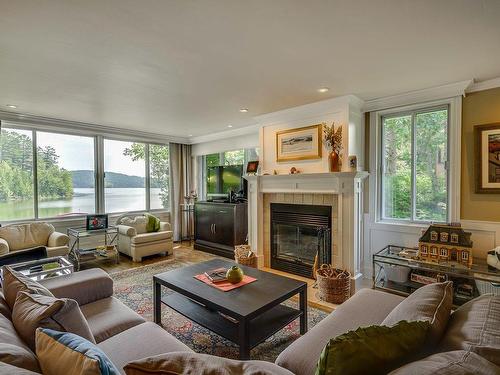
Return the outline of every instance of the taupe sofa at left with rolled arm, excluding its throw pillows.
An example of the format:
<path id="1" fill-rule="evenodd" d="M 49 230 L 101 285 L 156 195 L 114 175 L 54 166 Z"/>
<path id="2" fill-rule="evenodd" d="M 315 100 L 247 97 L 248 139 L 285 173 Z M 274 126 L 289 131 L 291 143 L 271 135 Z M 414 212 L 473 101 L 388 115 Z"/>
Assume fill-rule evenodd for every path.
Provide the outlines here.
<path id="1" fill-rule="evenodd" d="M 146 322 L 113 297 L 113 280 L 99 268 L 47 279 L 42 284 L 54 296 L 78 302 L 97 345 L 122 373 L 130 361 L 169 352 L 192 352 L 159 325 Z M 292 375 L 272 363 L 249 362 L 271 374 Z M 0 294 L 0 374 L 29 375 L 39 371 L 35 354 L 14 329 L 11 311 Z"/>

